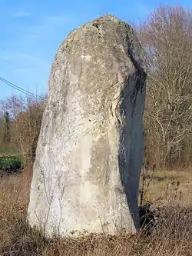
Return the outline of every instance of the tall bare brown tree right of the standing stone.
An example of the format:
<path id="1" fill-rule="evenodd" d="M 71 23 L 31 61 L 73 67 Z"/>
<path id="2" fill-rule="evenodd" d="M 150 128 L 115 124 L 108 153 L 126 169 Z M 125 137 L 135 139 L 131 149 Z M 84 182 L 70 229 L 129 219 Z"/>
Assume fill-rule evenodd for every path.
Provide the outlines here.
<path id="1" fill-rule="evenodd" d="M 191 157 L 192 14 L 157 8 L 139 31 L 148 71 L 145 111 L 147 158 L 172 165 Z M 185 159 L 186 160 L 186 159 Z M 190 159 L 191 160 L 191 159 Z"/>

